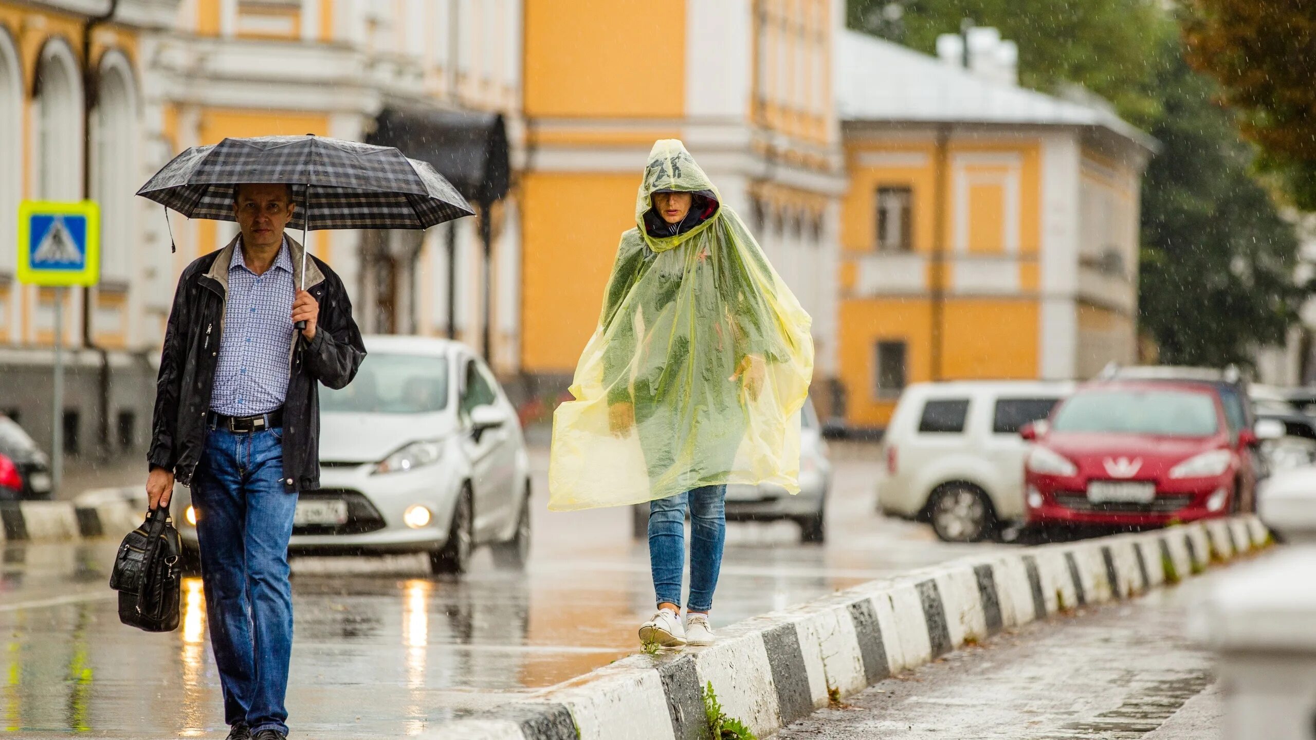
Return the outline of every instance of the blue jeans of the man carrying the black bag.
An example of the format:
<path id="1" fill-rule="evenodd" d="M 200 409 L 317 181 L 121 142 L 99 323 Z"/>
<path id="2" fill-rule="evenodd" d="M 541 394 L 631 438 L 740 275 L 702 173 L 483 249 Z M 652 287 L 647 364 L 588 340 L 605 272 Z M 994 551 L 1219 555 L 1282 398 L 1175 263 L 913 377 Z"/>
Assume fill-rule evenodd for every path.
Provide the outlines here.
<path id="1" fill-rule="evenodd" d="M 287 733 L 292 657 L 288 539 L 297 495 L 284 492 L 283 429 L 209 429 L 192 481 L 205 616 L 224 687 L 224 722 Z"/>

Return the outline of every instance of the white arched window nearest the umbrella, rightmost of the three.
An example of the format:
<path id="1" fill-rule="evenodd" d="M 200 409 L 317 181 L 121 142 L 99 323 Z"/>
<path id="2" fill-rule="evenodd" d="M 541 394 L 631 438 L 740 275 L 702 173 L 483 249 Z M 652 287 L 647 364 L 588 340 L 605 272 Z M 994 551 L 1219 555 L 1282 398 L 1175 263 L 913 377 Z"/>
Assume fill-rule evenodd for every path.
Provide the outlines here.
<path id="1" fill-rule="evenodd" d="M 92 198 L 100 203 L 101 274 L 128 280 L 132 274 L 133 192 L 137 188 L 137 103 L 128 61 L 116 51 L 100 63 L 92 116 L 95 158 Z"/>

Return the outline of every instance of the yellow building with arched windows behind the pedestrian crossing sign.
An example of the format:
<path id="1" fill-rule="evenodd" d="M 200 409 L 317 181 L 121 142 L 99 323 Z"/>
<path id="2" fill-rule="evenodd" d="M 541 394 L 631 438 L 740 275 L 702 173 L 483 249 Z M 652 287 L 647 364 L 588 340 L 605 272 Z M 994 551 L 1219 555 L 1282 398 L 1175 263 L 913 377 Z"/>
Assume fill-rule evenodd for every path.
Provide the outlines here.
<path id="1" fill-rule="evenodd" d="M 75 0 L 0 0 L 0 413 L 20 419 L 36 438 L 51 438 L 49 348 L 54 290 L 16 282 L 17 208 L 22 199 L 101 203 L 101 282 L 64 292 L 68 390 L 62 410 L 66 448 L 96 440 L 132 446 L 145 428 L 130 384 L 111 387 L 109 367 L 132 365 L 143 341 L 132 288 L 145 265 L 136 249 L 139 209 L 133 192 L 149 172 L 139 154 L 143 38 L 172 24 L 174 3 L 122 0 L 113 17 Z M 103 375 L 101 369 L 105 369 Z"/>

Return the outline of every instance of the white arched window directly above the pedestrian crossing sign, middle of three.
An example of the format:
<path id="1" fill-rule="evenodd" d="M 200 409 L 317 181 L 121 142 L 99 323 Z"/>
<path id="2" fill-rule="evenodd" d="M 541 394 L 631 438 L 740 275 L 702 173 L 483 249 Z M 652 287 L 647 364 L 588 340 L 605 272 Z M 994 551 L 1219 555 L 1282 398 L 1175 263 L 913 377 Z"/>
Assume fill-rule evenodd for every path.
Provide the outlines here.
<path id="1" fill-rule="evenodd" d="M 72 50 L 50 40 L 37 63 L 33 196 L 82 199 L 82 80 Z"/>

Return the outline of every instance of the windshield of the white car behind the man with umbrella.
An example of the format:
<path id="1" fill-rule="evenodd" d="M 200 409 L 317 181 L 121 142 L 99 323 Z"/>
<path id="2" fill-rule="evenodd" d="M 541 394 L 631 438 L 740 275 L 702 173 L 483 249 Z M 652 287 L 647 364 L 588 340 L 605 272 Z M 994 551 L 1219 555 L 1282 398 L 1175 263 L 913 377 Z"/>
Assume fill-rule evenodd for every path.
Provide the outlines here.
<path id="1" fill-rule="evenodd" d="M 433 413 L 446 406 L 447 358 L 434 356 L 370 353 L 347 387 L 320 394 L 325 412 Z"/>

